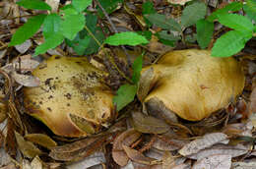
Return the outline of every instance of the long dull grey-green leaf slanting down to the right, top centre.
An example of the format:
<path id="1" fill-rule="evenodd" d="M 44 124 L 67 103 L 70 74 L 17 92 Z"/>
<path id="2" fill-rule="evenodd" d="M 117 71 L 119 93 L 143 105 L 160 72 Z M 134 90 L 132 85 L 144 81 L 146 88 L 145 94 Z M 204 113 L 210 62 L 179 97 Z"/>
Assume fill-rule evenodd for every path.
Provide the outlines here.
<path id="1" fill-rule="evenodd" d="M 149 20 L 149 22 L 156 25 L 157 27 L 160 27 L 163 29 L 173 29 L 176 31 L 181 31 L 179 24 L 175 20 L 171 18 L 167 19 L 164 15 L 160 15 L 156 13 L 156 14 L 145 15 L 144 17 L 147 20 Z"/>

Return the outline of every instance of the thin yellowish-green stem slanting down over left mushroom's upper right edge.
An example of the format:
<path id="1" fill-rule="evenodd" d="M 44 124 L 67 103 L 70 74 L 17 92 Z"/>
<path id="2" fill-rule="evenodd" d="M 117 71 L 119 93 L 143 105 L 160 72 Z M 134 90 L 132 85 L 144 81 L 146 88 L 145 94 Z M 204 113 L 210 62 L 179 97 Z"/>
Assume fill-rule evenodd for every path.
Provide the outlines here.
<path id="1" fill-rule="evenodd" d="M 96 40 L 96 44 L 99 46 L 99 48 L 102 48 L 103 44 L 101 44 L 97 39 L 96 36 L 93 34 L 93 32 L 87 27 L 85 26 L 85 28 L 87 29 L 87 31 L 89 32 L 89 34 Z M 110 63 L 114 66 L 114 68 L 117 70 L 117 72 L 125 79 L 127 80 L 129 83 L 132 84 L 132 80 L 130 80 L 119 68 L 118 66 L 115 64 L 113 57 L 105 52 L 106 56 L 108 57 L 108 60 L 110 61 Z"/>

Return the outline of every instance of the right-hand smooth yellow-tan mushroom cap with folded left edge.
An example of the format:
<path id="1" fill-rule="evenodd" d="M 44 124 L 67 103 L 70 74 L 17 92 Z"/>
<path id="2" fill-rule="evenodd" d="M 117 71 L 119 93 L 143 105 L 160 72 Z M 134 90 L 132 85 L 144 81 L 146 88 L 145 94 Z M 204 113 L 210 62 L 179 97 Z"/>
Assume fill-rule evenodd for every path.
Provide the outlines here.
<path id="1" fill-rule="evenodd" d="M 138 97 L 145 110 L 166 121 L 173 114 L 199 121 L 227 106 L 242 92 L 244 74 L 233 58 L 214 58 L 208 50 L 176 50 L 142 71 Z"/>

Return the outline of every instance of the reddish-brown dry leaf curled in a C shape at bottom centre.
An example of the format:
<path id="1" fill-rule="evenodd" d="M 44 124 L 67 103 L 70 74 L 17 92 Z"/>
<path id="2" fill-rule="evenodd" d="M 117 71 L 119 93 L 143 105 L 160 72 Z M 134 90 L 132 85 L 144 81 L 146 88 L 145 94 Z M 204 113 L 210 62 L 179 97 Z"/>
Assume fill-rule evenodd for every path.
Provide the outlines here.
<path id="1" fill-rule="evenodd" d="M 119 135 L 113 142 L 112 157 L 113 160 L 120 166 L 125 166 L 129 158 L 123 150 L 122 144 L 127 146 L 131 145 L 134 141 L 137 141 L 141 137 L 141 133 L 130 129 Z"/>

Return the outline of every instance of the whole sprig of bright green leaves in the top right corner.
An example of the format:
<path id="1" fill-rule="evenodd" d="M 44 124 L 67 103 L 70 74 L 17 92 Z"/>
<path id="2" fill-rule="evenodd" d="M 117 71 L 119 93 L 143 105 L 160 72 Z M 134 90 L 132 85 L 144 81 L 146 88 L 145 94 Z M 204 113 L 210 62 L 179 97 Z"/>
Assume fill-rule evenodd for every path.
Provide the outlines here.
<path id="1" fill-rule="evenodd" d="M 244 8 L 247 16 L 230 14 Z M 218 21 L 222 25 L 233 30 L 227 31 L 217 39 L 212 49 L 212 56 L 228 57 L 244 48 L 246 42 L 255 36 L 256 27 L 252 24 L 256 15 L 256 1 L 247 0 L 243 6 L 240 2 L 233 2 L 223 9 L 217 10 L 207 19 L 197 22 L 197 41 L 201 48 L 206 48 L 213 36 L 214 22 Z"/>

